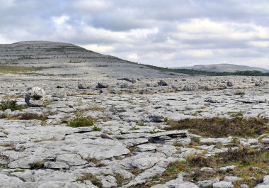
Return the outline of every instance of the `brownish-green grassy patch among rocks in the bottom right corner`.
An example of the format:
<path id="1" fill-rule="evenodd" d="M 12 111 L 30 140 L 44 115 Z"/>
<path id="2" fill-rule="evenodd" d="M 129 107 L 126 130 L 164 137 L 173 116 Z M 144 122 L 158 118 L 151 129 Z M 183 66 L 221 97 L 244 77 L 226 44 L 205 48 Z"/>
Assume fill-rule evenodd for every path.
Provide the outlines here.
<path id="1" fill-rule="evenodd" d="M 248 184 L 254 187 L 261 182 L 263 177 L 268 174 L 269 150 L 240 148 L 239 150 L 228 150 L 212 157 L 195 156 L 185 161 L 171 162 L 166 171 L 162 175 L 156 175 L 152 179 L 147 180 L 147 184 L 142 187 L 151 187 L 156 182 L 164 184 L 172 179 L 176 179 L 178 173 L 188 172 L 185 181 L 198 182 L 215 177 L 223 178 L 227 175 L 241 177 L 244 180 L 235 183 L 235 187 L 239 188 L 240 184 Z M 236 165 L 234 170 L 223 172 L 219 167 L 227 165 Z M 212 167 L 215 172 L 201 172 L 201 167 Z"/>

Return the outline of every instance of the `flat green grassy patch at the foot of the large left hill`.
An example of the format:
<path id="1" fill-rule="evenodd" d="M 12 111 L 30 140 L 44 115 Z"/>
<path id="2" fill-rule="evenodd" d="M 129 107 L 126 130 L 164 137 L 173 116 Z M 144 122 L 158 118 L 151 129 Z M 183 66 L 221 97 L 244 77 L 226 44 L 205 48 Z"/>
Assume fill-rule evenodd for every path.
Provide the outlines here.
<path id="1" fill-rule="evenodd" d="M 0 65 L 0 73 L 21 74 L 23 72 L 41 70 L 39 67 L 25 67 L 18 65 Z"/>

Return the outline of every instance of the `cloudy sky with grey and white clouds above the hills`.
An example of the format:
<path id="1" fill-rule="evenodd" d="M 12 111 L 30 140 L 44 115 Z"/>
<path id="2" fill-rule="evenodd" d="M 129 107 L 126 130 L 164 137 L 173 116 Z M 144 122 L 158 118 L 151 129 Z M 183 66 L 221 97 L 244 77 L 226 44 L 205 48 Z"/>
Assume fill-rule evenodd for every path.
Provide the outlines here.
<path id="1" fill-rule="evenodd" d="M 51 40 L 164 67 L 269 69 L 268 0 L 0 0 L 0 43 Z"/>

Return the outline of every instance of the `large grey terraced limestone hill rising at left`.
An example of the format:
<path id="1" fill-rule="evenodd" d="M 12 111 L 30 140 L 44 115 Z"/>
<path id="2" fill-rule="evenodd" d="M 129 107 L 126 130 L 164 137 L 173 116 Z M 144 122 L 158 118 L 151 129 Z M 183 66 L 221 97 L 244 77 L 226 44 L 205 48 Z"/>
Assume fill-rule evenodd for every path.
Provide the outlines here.
<path id="1" fill-rule="evenodd" d="M 26 41 L 0 45 L 0 65 L 39 67 L 42 76 L 73 76 L 95 79 L 111 77 L 167 77 L 169 73 L 103 55 L 69 43 Z"/>

